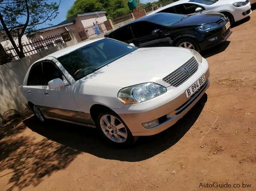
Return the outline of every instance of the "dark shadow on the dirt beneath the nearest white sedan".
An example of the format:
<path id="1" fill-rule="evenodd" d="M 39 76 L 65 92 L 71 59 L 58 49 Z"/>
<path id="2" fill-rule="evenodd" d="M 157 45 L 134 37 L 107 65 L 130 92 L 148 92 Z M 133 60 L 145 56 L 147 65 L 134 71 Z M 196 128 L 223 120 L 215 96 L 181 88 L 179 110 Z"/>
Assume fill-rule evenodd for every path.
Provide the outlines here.
<path id="1" fill-rule="evenodd" d="M 47 139 L 77 151 L 104 159 L 135 162 L 149 159 L 175 145 L 198 119 L 205 102 L 207 102 L 207 94 L 204 94 L 198 103 L 175 125 L 160 134 L 140 137 L 128 149 L 117 149 L 106 145 L 101 141 L 96 129 L 92 128 L 52 120 L 47 125 L 43 125 L 35 119 L 35 116 L 24 120 L 23 123 Z"/>

